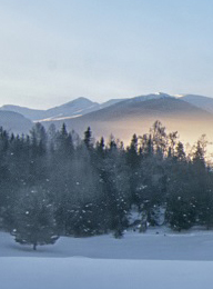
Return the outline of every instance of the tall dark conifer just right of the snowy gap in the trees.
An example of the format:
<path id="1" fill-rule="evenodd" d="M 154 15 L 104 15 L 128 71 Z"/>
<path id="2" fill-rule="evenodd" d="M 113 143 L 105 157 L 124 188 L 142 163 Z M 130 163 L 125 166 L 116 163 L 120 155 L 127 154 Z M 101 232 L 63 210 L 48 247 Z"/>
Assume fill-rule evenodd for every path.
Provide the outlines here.
<path id="1" fill-rule="evenodd" d="M 174 157 L 168 162 L 168 193 L 165 221 L 176 231 L 195 225 L 197 201 L 194 195 L 191 166 L 186 161 L 183 144 L 178 142 Z"/>

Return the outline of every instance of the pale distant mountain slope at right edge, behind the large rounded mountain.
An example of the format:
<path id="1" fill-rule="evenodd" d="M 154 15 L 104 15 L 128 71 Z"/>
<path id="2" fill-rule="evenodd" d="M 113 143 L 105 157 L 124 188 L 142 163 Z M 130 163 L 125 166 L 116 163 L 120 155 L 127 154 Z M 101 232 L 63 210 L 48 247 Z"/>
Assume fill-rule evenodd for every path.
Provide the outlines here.
<path id="1" fill-rule="evenodd" d="M 182 100 L 189 103 L 202 108 L 211 113 L 213 113 L 213 98 L 195 96 L 195 94 L 184 94 L 181 97 Z"/>

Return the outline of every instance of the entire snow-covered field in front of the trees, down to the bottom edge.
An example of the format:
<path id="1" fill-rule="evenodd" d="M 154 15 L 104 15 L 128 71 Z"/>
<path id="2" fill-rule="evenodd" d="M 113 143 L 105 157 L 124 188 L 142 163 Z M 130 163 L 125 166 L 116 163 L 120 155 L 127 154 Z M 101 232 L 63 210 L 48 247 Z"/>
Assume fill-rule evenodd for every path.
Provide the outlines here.
<path id="1" fill-rule="evenodd" d="M 1 289 L 200 289 L 212 283 L 212 231 L 60 238 L 36 252 L 0 232 Z"/>

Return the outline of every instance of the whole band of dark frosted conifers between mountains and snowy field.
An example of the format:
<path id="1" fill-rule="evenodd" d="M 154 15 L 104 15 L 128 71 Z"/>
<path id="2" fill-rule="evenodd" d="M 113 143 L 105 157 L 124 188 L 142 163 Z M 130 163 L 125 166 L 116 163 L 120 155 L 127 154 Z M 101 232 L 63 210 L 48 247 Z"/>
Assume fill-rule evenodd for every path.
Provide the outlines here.
<path id="1" fill-rule="evenodd" d="M 113 137 L 81 140 L 51 126 L 34 124 L 29 136 L 0 129 L 0 220 L 22 243 L 54 242 L 59 235 L 94 236 L 130 227 L 164 223 L 174 230 L 213 226 L 213 172 L 204 138 L 186 155 L 178 132 L 156 121 L 131 143 Z M 162 219 L 161 219 L 162 220 Z"/>

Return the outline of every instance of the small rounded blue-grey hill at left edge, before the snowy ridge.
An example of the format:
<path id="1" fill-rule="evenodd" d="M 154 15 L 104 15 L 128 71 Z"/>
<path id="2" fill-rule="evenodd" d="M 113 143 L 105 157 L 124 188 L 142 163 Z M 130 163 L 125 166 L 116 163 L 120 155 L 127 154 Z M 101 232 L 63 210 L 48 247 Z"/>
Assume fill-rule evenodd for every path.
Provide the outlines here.
<path id="1" fill-rule="evenodd" d="M 22 114 L 0 110 L 0 127 L 13 133 L 28 133 L 33 123 Z"/>

